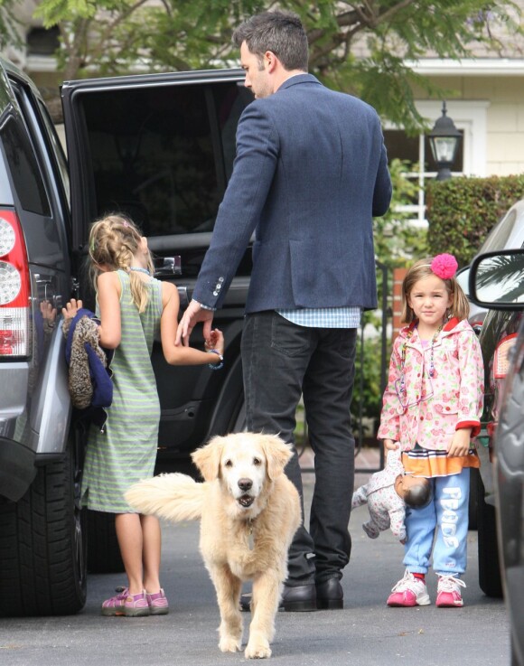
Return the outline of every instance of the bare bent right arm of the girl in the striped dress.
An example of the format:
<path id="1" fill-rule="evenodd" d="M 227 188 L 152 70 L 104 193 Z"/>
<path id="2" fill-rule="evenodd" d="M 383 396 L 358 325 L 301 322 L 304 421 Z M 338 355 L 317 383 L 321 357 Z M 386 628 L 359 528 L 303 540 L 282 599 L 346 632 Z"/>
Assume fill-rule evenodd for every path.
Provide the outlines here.
<path id="1" fill-rule="evenodd" d="M 162 283 L 162 305 L 164 309 L 160 319 L 160 338 L 165 360 L 171 365 L 220 364 L 220 356 L 216 353 L 201 352 L 194 347 L 175 343 L 180 298 L 176 287 L 170 282 Z M 206 340 L 206 347 L 215 349 L 220 355 L 223 355 L 224 336 L 218 329 L 211 331 L 210 338 Z"/>

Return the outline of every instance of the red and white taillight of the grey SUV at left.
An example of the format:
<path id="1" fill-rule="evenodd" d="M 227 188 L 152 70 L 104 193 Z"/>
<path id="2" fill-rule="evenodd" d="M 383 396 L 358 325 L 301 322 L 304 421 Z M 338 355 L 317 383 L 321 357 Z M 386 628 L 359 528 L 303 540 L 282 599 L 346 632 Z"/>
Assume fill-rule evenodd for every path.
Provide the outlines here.
<path id="1" fill-rule="evenodd" d="M 28 356 L 31 286 L 20 221 L 0 210 L 0 358 Z"/>

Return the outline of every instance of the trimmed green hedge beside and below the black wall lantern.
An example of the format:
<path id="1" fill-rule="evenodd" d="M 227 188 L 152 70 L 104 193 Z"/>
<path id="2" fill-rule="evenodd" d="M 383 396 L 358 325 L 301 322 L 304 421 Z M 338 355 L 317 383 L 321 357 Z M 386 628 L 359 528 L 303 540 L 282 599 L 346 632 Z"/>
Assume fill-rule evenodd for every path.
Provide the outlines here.
<path id="1" fill-rule="evenodd" d="M 524 175 L 426 182 L 429 254 L 451 252 L 467 266 L 510 206 L 524 198 Z"/>

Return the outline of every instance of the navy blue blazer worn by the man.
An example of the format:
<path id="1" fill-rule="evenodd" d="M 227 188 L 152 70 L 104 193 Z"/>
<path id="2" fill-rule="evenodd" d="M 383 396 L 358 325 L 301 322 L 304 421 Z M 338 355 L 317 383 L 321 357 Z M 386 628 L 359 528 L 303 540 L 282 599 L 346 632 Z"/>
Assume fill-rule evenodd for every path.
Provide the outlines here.
<path id="1" fill-rule="evenodd" d="M 220 307 L 255 231 L 246 312 L 377 306 L 372 217 L 391 180 L 376 111 L 311 74 L 254 100 L 193 298 Z"/>

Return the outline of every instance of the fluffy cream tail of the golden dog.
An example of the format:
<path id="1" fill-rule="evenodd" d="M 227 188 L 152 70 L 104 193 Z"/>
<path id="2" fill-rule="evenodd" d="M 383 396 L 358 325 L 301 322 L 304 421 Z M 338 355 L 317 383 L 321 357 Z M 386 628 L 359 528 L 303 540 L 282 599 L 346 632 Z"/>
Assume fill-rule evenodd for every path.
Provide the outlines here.
<path id="1" fill-rule="evenodd" d="M 124 496 L 140 513 L 174 522 L 197 521 L 202 515 L 205 485 L 187 474 L 160 474 L 135 483 Z"/>

